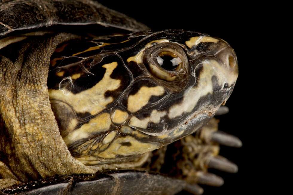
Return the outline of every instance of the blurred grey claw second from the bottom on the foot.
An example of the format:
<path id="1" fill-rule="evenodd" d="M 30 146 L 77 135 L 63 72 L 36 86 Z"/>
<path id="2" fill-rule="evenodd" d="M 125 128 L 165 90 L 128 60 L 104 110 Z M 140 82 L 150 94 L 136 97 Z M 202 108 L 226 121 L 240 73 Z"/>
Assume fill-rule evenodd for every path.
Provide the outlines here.
<path id="1" fill-rule="evenodd" d="M 212 173 L 205 173 L 203 171 L 198 171 L 196 173 L 197 182 L 200 184 L 211 185 L 211 186 L 221 186 L 224 184 L 224 179 Z"/>

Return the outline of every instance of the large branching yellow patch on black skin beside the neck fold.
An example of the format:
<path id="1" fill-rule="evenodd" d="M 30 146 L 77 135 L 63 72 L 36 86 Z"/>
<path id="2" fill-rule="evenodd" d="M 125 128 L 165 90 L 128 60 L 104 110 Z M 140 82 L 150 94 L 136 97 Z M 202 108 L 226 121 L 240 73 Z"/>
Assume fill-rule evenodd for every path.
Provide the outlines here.
<path id="1" fill-rule="evenodd" d="M 74 94 L 65 88 L 49 89 L 49 97 L 68 103 L 76 112 L 97 114 L 114 100 L 113 97 L 105 97 L 106 91 L 112 91 L 120 87 L 121 81 L 110 77 L 117 65 L 117 62 L 104 64 L 102 67 L 106 68 L 106 72 L 103 79 L 87 90 Z"/>

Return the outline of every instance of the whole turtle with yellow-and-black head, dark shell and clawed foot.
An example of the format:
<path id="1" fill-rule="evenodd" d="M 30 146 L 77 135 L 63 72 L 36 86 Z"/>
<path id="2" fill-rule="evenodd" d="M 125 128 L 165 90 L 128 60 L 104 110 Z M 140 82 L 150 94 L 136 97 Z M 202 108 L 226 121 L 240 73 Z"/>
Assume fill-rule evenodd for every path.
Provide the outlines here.
<path id="1" fill-rule="evenodd" d="M 91 0 L 0 4 L 0 193 L 202 194 L 237 166 L 218 131 L 234 49 Z"/>

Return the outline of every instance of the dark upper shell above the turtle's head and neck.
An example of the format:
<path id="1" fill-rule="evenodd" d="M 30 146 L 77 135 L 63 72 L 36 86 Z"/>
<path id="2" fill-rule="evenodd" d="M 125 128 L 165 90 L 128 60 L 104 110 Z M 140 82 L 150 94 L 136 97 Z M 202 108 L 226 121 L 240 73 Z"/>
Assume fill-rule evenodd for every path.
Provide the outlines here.
<path id="1" fill-rule="evenodd" d="M 46 28 L 68 30 L 83 25 L 115 28 L 117 31 L 146 30 L 144 24 L 90 0 L 4 0 L 0 4 L 0 37 Z M 84 30 L 84 29 L 83 29 Z M 87 31 L 88 32 L 88 31 Z"/>

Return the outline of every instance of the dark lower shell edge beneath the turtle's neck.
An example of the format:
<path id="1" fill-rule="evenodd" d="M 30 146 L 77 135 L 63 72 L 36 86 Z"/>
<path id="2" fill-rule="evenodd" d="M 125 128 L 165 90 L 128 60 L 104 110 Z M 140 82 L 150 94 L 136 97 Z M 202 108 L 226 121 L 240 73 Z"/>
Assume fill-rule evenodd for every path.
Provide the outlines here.
<path id="1" fill-rule="evenodd" d="M 59 176 L 5 189 L 5 194 L 201 194 L 202 188 L 184 180 L 146 171 L 109 171 L 104 174 Z M 1 193 L 1 191 L 0 191 Z"/>

